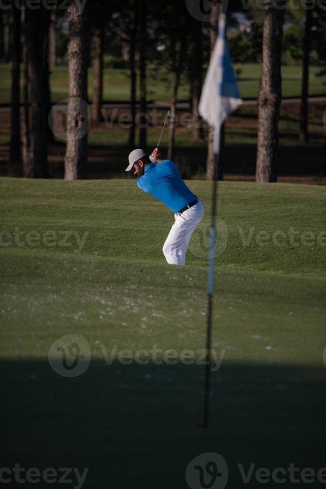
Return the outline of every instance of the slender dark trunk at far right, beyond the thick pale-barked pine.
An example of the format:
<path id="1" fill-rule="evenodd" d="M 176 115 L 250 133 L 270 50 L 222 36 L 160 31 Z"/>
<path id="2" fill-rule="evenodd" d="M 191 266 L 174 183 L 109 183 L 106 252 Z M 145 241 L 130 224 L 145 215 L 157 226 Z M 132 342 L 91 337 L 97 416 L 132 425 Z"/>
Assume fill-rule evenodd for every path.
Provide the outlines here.
<path id="1" fill-rule="evenodd" d="M 308 135 L 308 87 L 309 87 L 309 54 L 310 54 L 310 33 L 311 33 L 312 11 L 306 7 L 306 23 L 304 37 L 304 58 L 302 69 L 302 92 L 301 92 L 301 111 L 300 111 L 300 140 L 303 143 L 309 142 Z"/>

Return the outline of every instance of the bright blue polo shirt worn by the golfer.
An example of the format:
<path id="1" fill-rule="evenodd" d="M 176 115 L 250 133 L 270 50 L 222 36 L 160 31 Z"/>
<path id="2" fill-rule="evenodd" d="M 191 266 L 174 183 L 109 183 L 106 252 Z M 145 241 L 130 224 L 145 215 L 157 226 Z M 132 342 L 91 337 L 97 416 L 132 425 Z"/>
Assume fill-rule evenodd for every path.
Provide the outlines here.
<path id="1" fill-rule="evenodd" d="M 144 175 L 137 180 L 137 185 L 173 212 L 178 212 L 196 199 L 183 182 L 174 163 L 169 160 L 147 165 Z"/>

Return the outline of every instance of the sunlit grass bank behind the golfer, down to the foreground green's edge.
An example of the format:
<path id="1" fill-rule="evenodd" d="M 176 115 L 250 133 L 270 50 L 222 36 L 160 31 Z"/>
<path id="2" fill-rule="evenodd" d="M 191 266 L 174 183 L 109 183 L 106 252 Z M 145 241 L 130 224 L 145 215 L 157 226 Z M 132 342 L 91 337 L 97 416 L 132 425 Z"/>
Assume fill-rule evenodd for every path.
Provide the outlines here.
<path id="1" fill-rule="evenodd" d="M 205 205 L 205 218 L 192 240 L 187 262 L 203 266 L 207 259 L 210 184 L 192 181 L 190 185 Z M 45 181 L 42 185 L 4 179 L 1 186 L 6 230 L 13 232 L 19 226 L 25 233 L 88 232 L 83 254 L 164 263 L 162 245 L 173 216 L 152 196 L 140 192 L 134 177 L 127 182 Z M 318 236 L 320 240 L 325 237 L 321 235 L 324 200 L 324 187 L 222 183 L 218 216 L 224 223 L 221 245 L 225 250 L 220 249 L 218 264 L 242 270 L 325 275 L 325 246 L 318 245 Z M 294 245 L 289 237 L 291 228 L 296 233 Z M 262 232 L 269 237 L 261 236 Z M 276 232 L 286 236 L 274 243 Z M 305 245 L 303 240 L 309 236 L 302 234 L 308 232 L 315 239 Z M 41 247 L 51 254 L 78 251 L 76 241 L 73 249 Z"/>

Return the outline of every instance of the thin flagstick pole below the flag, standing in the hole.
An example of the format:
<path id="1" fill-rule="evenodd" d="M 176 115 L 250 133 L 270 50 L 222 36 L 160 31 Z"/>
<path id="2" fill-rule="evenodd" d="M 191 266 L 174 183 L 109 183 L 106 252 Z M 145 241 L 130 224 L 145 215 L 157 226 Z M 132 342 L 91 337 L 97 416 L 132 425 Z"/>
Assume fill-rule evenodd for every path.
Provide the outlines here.
<path id="1" fill-rule="evenodd" d="M 216 155 L 214 154 L 215 163 Z M 204 416 L 203 428 L 208 428 L 209 419 L 209 396 L 210 396 L 210 372 L 211 362 L 211 336 L 213 319 L 213 290 L 214 290 L 214 258 L 216 243 L 216 207 L 217 207 L 217 179 L 213 181 L 212 188 L 212 221 L 210 226 L 210 246 L 208 258 L 208 286 L 207 286 L 207 333 L 206 333 L 206 365 L 205 365 L 205 385 L 204 385 Z"/>

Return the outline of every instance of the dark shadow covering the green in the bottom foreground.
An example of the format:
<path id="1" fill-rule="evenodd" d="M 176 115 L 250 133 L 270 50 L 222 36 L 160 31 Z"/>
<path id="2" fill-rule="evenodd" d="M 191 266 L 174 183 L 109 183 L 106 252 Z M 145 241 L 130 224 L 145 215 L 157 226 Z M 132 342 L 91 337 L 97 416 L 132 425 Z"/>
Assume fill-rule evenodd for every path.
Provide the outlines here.
<path id="1" fill-rule="evenodd" d="M 326 465 L 322 361 L 320 367 L 222 363 L 212 373 L 206 430 L 197 426 L 202 366 L 98 361 L 76 378 L 61 377 L 46 361 L 2 361 L 0 368 L 1 467 L 88 467 L 87 489 L 186 488 L 192 458 L 217 452 L 228 464 L 227 488 L 239 489 L 261 484 L 254 477 L 243 484 L 238 463 L 246 471 L 252 463 L 270 470 Z"/>

